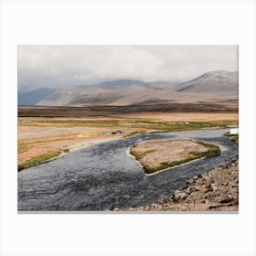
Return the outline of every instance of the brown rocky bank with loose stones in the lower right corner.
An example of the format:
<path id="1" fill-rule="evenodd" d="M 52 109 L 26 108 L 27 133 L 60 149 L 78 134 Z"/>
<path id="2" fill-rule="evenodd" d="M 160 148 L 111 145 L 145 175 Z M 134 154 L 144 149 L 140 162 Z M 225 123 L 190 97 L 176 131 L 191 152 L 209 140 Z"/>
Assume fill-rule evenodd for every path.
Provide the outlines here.
<path id="1" fill-rule="evenodd" d="M 159 204 L 124 210 L 238 211 L 239 160 L 225 167 L 212 169 L 202 176 L 189 178 L 186 188 L 176 190 Z"/>

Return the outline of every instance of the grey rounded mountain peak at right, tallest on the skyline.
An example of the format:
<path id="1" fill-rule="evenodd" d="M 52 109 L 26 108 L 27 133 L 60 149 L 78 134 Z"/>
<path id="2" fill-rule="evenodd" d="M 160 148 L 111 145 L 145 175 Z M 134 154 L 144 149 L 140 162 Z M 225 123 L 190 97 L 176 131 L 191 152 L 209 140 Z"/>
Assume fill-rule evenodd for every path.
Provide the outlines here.
<path id="1" fill-rule="evenodd" d="M 197 92 L 212 93 L 216 96 L 220 94 L 236 95 L 238 91 L 239 75 L 238 72 L 218 70 L 205 73 L 200 77 L 181 83 L 177 92 Z"/>

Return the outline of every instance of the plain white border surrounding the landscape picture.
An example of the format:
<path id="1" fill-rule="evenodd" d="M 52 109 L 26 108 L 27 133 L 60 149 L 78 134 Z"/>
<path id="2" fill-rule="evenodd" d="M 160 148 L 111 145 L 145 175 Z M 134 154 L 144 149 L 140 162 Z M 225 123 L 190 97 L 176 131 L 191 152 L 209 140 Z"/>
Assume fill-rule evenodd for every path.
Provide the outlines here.
<path id="1" fill-rule="evenodd" d="M 2 255 L 255 255 L 255 2 L 1 2 Z M 240 213 L 20 215 L 16 47 L 26 44 L 240 46 Z"/>

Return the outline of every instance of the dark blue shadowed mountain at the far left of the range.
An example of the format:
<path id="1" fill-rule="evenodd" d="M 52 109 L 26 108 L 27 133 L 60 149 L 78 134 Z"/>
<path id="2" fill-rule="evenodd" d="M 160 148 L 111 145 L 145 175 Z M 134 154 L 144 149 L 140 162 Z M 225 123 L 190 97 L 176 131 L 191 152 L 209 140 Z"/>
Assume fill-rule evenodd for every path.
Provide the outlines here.
<path id="1" fill-rule="evenodd" d="M 48 98 L 56 90 L 48 88 L 38 88 L 33 91 L 18 91 L 18 105 L 36 105 L 39 101 Z"/>

